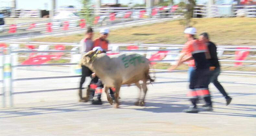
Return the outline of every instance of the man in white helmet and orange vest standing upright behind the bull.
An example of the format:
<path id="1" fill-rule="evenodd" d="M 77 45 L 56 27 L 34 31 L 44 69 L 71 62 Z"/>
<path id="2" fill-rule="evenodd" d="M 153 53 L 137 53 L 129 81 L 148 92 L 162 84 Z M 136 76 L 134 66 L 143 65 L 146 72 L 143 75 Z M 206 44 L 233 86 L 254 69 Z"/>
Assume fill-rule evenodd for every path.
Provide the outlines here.
<path id="1" fill-rule="evenodd" d="M 106 53 L 108 51 L 108 45 L 109 45 L 109 41 L 107 40 L 109 36 L 109 29 L 108 28 L 100 29 L 99 33 L 100 33 L 100 37 L 93 40 L 93 48 L 101 47 L 103 49 L 103 52 Z M 115 98 L 114 92 L 112 91 L 111 88 L 109 88 L 109 90 L 110 90 L 110 97 L 114 99 Z"/>

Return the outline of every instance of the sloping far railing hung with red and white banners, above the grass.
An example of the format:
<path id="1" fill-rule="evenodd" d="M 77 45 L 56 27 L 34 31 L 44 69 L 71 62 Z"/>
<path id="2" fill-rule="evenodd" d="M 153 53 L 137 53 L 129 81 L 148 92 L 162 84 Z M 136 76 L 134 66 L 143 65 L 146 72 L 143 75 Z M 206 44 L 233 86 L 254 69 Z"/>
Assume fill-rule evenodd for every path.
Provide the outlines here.
<path id="1" fill-rule="evenodd" d="M 139 7 L 141 8 L 141 7 Z M 140 10 L 127 10 L 131 11 L 131 13 L 127 14 L 127 11 L 124 12 L 114 12 L 116 11 L 115 8 L 111 10 L 106 10 L 103 13 L 92 13 L 93 17 L 99 17 L 98 21 L 94 23 L 94 28 L 101 28 L 101 27 L 126 27 L 126 26 L 134 26 L 138 24 L 148 24 L 148 23 L 155 23 L 161 21 L 172 20 L 173 18 L 182 18 L 182 13 L 169 12 L 167 13 L 160 13 L 157 12 L 155 15 L 151 15 L 151 11 L 140 12 Z M 111 14 L 115 13 L 114 17 L 111 17 Z M 82 13 L 81 13 L 82 14 Z M 164 15 L 164 16 L 162 16 Z M 96 19 L 97 20 L 97 19 Z M 68 21 L 68 30 L 63 30 L 64 21 Z M 47 32 L 47 23 L 51 22 L 52 32 Z M 34 27 L 31 28 L 31 24 L 36 24 Z M 39 22 L 31 22 L 31 23 L 21 23 L 17 24 L 17 31 L 15 33 L 7 33 L 9 31 L 11 25 L 4 25 L 1 26 L 2 30 L 4 31 L 0 35 L 0 39 L 2 40 L 10 40 L 16 38 L 32 38 L 32 37 L 39 37 L 39 36 L 46 36 L 46 35 L 66 35 L 66 34 L 76 34 L 76 33 L 84 33 L 85 28 L 80 28 L 80 18 L 72 17 L 68 19 L 56 19 L 56 20 L 49 20 L 49 21 L 39 21 Z"/>

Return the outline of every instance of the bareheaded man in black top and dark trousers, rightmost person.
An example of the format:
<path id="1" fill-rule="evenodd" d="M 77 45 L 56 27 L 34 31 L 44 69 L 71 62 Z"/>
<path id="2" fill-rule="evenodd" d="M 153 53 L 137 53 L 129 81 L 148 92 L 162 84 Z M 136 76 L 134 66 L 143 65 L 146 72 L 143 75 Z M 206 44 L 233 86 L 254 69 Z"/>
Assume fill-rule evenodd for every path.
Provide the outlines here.
<path id="1" fill-rule="evenodd" d="M 226 102 L 227 102 L 226 105 L 229 105 L 232 98 L 227 95 L 223 86 L 218 81 L 218 76 L 220 74 L 220 64 L 219 64 L 218 57 L 217 57 L 217 47 L 213 42 L 211 42 L 209 40 L 209 36 L 206 32 L 201 33 L 199 35 L 199 40 L 201 40 L 202 42 L 204 42 L 207 45 L 208 50 L 211 55 L 211 59 L 209 59 L 209 62 L 210 62 L 210 69 L 212 70 L 212 75 L 210 77 L 209 84 L 213 83 L 215 85 L 215 87 L 225 97 Z"/>

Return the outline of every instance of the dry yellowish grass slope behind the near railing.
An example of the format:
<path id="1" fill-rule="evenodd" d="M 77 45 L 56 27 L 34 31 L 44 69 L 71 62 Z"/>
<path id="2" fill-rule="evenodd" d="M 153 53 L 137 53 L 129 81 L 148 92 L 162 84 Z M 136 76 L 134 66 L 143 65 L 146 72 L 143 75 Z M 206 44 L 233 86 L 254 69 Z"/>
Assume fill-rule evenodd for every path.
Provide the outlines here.
<path id="1" fill-rule="evenodd" d="M 210 39 L 216 45 L 256 45 L 256 18 L 193 18 L 197 24 L 198 33 L 208 32 Z M 157 44 L 184 44 L 186 39 L 183 34 L 183 26 L 179 21 L 167 21 L 143 26 L 122 28 L 111 30 L 108 40 L 110 43 L 134 43 L 140 41 L 143 43 Z M 77 34 L 66 37 L 47 37 L 34 39 L 34 41 L 47 42 L 79 42 L 84 37 L 83 34 Z M 99 33 L 95 33 L 95 38 Z M 234 52 L 225 52 L 232 54 Z M 250 52 L 254 54 L 255 52 Z M 224 58 L 221 58 L 224 59 Z M 234 58 L 229 58 L 234 60 Z M 255 60 L 255 58 L 246 58 L 246 60 Z M 225 62 L 227 64 L 228 62 Z M 230 62 L 230 64 L 233 64 Z M 157 63 L 155 68 L 166 69 L 169 63 Z M 177 70 L 187 69 L 187 65 L 178 67 Z M 253 67 L 233 67 L 223 66 L 222 70 L 255 71 Z"/>

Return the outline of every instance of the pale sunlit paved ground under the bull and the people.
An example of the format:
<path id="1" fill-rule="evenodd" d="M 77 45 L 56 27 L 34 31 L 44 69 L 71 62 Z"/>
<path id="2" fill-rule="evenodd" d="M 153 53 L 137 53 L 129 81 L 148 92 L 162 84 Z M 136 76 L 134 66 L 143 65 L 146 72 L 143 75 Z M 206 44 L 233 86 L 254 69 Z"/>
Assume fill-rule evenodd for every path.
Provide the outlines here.
<path id="1" fill-rule="evenodd" d="M 19 69 L 17 78 L 28 77 L 26 74 L 30 77 L 69 75 L 69 68 L 52 67 L 51 72 L 42 69 L 37 67 L 27 73 Z M 186 77 L 187 74 L 179 73 L 157 74 L 157 82 L 183 81 Z M 221 76 L 219 80 L 256 82 L 255 78 L 232 76 Z M 77 79 L 72 81 L 18 81 L 14 92 L 77 87 Z M 187 86 L 188 83 L 148 85 L 145 107 L 133 106 L 137 88 L 122 87 L 118 109 L 107 103 L 105 94 L 103 105 L 78 103 L 77 90 L 14 95 L 14 108 L 0 108 L 0 135 L 256 135 L 255 85 L 223 84 L 233 98 L 229 106 L 210 85 L 214 111 L 198 114 L 182 113 L 190 105 L 185 96 Z"/>

